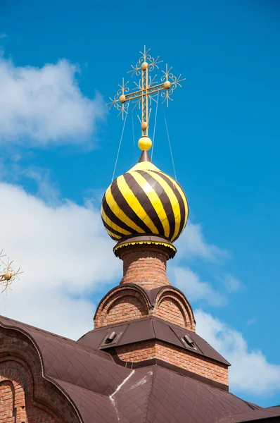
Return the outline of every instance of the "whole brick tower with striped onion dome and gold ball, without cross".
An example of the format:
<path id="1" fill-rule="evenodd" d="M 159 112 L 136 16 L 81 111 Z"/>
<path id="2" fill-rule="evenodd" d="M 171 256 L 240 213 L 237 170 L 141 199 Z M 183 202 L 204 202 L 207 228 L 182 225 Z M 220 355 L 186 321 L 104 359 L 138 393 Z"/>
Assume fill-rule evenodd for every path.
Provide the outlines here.
<path id="1" fill-rule="evenodd" d="M 196 334 L 191 305 L 166 275 L 173 242 L 186 226 L 186 195 L 151 163 L 151 140 L 141 137 L 139 147 L 139 162 L 113 181 L 101 209 L 117 241 L 122 280 L 99 303 L 94 331 L 79 342 L 107 350 L 125 367 L 160 363 L 227 389 L 229 362 Z"/>

